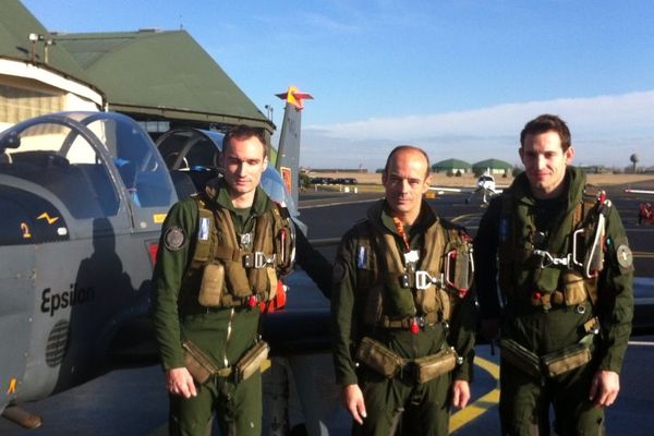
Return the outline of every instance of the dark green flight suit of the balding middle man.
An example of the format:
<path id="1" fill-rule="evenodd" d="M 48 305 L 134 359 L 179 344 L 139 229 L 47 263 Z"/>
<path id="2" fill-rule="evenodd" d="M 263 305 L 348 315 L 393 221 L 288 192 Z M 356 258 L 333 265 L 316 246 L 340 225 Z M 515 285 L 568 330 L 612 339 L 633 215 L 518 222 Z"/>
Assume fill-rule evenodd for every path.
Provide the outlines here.
<path id="1" fill-rule="evenodd" d="M 460 246 L 467 246 L 463 230 L 439 219 L 423 202 L 416 222 L 404 228 L 410 249 L 420 254 L 416 265 L 419 269 L 425 268 L 423 259 L 428 257 L 425 253 L 425 239 L 426 234 L 432 234 L 431 231 L 434 234 L 455 234 L 453 239 Z M 363 391 L 367 412 L 363 426 L 354 423 L 353 434 L 392 435 L 398 428 L 402 412 L 409 408 L 415 426 L 412 429 L 417 432 L 415 434 L 445 435 L 448 433 L 451 382 L 469 380 L 472 375 L 472 292 L 467 292 L 463 298 L 452 295 L 449 300 L 450 310 L 445 308 L 445 312 L 449 312 L 447 315 L 444 315 L 444 307 L 440 305 L 437 314 L 431 313 L 432 316 L 422 317 L 419 326 L 411 326 L 412 319 L 417 317 L 408 317 L 407 312 L 399 307 L 408 306 L 409 313 L 421 315 L 420 310 L 415 312 L 415 307 L 420 307 L 414 303 L 415 289 L 399 288 L 398 277 L 387 274 L 388 266 L 385 266 L 383 258 L 388 249 L 371 243 L 371 232 L 391 239 L 398 250 L 404 244 L 387 211 L 385 201 L 380 201 L 371 207 L 367 220 L 346 233 L 338 250 L 331 295 L 337 383 L 343 387 L 358 384 Z M 437 255 L 440 257 L 444 254 Z M 443 267 L 444 258 L 440 257 L 438 268 Z M 384 303 L 380 316 L 375 320 L 366 313 L 370 314 L 371 305 L 376 304 L 371 302 L 372 289 L 376 283 L 384 288 Z M 402 296 L 396 298 L 398 291 Z M 417 383 L 407 366 L 387 378 L 363 363 L 355 363 L 356 349 L 363 338 L 378 341 L 405 361 L 434 355 L 450 346 L 456 348 L 462 360 L 453 371 L 426 383 Z"/>

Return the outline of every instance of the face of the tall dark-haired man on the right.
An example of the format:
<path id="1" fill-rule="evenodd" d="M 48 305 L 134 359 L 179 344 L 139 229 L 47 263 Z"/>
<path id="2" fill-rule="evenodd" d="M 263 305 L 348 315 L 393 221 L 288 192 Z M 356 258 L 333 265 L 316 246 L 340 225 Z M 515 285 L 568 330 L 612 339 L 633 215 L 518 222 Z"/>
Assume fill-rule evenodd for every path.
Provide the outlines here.
<path id="1" fill-rule="evenodd" d="M 570 146 L 564 152 L 558 133 L 549 131 L 524 136 L 524 145 L 519 152 L 534 196 L 558 196 L 564 187 L 566 167 L 574 157 L 574 148 Z"/>

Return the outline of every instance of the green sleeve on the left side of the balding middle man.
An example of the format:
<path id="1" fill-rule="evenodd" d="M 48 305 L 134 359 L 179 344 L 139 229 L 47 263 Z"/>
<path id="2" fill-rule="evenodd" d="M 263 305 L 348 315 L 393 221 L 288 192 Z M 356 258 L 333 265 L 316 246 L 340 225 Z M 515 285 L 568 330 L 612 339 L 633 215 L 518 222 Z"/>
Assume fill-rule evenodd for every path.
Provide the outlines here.
<path id="1" fill-rule="evenodd" d="M 356 384 L 352 350 L 356 330 L 355 239 L 347 233 L 339 245 L 332 270 L 331 319 L 336 380 L 342 386 Z"/>

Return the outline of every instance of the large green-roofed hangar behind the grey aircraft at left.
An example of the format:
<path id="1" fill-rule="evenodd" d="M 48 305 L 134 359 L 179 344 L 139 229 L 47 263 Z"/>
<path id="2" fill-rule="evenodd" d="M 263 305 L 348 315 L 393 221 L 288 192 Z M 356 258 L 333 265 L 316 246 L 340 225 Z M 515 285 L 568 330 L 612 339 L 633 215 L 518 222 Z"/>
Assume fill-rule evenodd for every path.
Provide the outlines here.
<path id="1" fill-rule="evenodd" d="M 272 89 L 271 89 L 272 94 Z M 266 118 L 185 31 L 49 33 L 19 0 L 0 14 L 0 130 L 61 110 L 112 110 L 157 136 Z"/>

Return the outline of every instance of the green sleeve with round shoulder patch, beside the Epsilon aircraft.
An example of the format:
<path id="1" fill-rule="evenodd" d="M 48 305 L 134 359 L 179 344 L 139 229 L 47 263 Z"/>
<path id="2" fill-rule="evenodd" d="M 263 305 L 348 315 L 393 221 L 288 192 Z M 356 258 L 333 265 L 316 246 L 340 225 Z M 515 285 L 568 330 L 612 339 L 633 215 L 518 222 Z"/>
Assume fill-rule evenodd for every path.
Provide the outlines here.
<path id="1" fill-rule="evenodd" d="M 181 348 L 179 298 L 184 274 L 193 255 L 197 233 L 197 206 L 177 203 L 161 227 L 153 278 L 153 322 L 165 370 L 184 366 Z"/>

